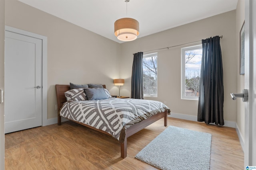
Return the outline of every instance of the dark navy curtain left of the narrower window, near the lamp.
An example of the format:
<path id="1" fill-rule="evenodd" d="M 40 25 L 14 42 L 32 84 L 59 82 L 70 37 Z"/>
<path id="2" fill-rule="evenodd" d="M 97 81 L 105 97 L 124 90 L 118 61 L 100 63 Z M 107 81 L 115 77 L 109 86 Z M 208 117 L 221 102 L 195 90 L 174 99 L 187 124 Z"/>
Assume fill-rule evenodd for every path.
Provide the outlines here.
<path id="1" fill-rule="evenodd" d="M 143 52 L 134 54 L 132 64 L 131 98 L 143 99 Z"/>

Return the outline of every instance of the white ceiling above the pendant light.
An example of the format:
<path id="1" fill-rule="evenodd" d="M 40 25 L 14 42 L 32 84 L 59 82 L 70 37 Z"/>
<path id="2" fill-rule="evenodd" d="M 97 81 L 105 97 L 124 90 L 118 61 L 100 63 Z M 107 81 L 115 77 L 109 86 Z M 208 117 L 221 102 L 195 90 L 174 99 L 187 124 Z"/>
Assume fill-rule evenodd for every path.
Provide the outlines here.
<path id="1" fill-rule="evenodd" d="M 238 0 L 19 0 L 88 29 L 119 41 L 114 22 L 134 18 L 140 23 L 140 37 L 164 31 L 236 9 Z"/>

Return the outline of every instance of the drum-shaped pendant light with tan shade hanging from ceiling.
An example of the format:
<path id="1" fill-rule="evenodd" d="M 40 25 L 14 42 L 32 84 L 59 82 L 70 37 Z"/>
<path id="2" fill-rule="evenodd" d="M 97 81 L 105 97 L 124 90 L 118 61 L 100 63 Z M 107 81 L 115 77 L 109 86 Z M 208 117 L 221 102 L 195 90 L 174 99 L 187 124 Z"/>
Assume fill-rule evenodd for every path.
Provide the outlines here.
<path id="1" fill-rule="evenodd" d="M 126 16 L 127 16 L 127 2 L 126 2 Z M 133 18 L 121 18 L 114 23 L 114 30 L 117 39 L 120 41 L 133 41 L 139 35 L 139 22 Z"/>

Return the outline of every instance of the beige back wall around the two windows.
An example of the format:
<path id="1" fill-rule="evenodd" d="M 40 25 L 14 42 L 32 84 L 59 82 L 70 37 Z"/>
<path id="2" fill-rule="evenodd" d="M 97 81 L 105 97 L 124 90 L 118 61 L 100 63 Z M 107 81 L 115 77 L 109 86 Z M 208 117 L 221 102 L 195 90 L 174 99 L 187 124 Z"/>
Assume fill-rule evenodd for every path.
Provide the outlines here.
<path id="1" fill-rule="evenodd" d="M 234 127 L 236 122 L 236 102 L 230 93 L 236 92 L 237 51 L 236 51 L 236 11 L 188 23 L 160 33 L 141 37 L 135 41 L 121 44 L 120 75 L 126 79 L 122 87 L 122 95 L 130 95 L 130 78 L 133 55 L 139 51 L 149 51 L 194 41 L 200 41 L 215 35 L 223 35 L 220 39 L 224 71 L 224 121 Z M 194 43 L 191 45 L 197 45 Z M 158 51 L 158 97 L 146 98 L 166 102 L 173 113 L 180 113 L 197 120 L 198 100 L 181 99 L 181 53 L 174 47 Z"/>

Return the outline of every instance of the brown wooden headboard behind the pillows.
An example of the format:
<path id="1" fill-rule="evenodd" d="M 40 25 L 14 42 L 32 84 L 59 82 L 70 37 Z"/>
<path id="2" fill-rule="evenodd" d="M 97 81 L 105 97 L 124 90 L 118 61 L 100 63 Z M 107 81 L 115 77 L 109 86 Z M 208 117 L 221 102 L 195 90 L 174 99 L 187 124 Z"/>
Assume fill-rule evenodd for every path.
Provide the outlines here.
<path id="1" fill-rule="evenodd" d="M 106 88 L 105 84 L 102 86 L 103 88 Z M 55 87 L 56 87 L 57 105 L 58 105 L 58 112 L 59 112 L 62 105 L 67 101 L 64 93 L 70 90 L 70 85 L 56 84 Z"/>

